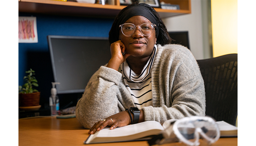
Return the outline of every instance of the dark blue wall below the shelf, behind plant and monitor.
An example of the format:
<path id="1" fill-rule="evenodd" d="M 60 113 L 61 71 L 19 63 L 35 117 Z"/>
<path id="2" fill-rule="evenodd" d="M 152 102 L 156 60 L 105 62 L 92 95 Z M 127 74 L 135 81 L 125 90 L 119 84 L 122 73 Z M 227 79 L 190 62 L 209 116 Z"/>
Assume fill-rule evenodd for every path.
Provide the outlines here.
<path id="1" fill-rule="evenodd" d="M 48 97 L 50 96 L 51 82 L 53 82 L 47 35 L 108 37 L 109 30 L 114 21 L 114 19 L 105 18 L 55 16 L 31 13 L 19 13 L 19 16 L 37 17 L 38 32 L 38 43 L 19 43 L 19 85 L 24 84 L 23 77 L 26 75 L 25 71 L 32 67 L 39 68 L 38 70 L 40 73 L 37 72 L 37 70 L 32 69 L 35 70 L 35 77 L 38 80 L 41 80 L 38 81 L 38 84 L 39 86 L 41 85 L 40 89 L 42 102 L 48 101 Z M 37 67 L 35 67 L 35 65 Z M 38 77 L 40 74 L 41 77 Z M 44 87 L 42 87 L 42 85 Z"/>

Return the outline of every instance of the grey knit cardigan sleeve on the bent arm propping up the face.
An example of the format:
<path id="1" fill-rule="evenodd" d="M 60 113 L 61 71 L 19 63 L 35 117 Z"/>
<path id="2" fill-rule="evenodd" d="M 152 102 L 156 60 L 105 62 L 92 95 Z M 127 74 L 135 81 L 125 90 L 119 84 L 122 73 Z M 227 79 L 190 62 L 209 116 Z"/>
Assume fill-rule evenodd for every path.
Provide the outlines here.
<path id="1" fill-rule="evenodd" d="M 77 120 L 86 129 L 119 112 L 116 94 L 121 78 L 121 73 L 104 66 L 90 78 L 75 111 Z"/>

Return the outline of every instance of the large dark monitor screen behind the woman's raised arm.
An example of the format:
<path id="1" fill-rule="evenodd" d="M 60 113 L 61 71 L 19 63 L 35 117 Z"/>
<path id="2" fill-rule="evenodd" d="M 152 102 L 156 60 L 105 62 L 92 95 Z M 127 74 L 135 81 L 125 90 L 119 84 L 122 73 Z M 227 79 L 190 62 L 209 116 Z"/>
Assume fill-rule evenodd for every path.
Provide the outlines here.
<path id="1" fill-rule="evenodd" d="M 90 77 L 111 58 L 108 38 L 47 36 L 57 93 L 81 93 Z"/>

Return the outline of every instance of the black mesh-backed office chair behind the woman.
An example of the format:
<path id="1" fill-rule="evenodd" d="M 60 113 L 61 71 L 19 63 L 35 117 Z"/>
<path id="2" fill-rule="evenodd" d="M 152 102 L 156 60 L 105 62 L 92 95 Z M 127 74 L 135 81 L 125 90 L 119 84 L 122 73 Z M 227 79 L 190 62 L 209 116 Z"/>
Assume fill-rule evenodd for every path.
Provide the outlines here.
<path id="1" fill-rule="evenodd" d="M 237 54 L 197 60 L 204 80 L 205 115 L 236 125 Z"/>

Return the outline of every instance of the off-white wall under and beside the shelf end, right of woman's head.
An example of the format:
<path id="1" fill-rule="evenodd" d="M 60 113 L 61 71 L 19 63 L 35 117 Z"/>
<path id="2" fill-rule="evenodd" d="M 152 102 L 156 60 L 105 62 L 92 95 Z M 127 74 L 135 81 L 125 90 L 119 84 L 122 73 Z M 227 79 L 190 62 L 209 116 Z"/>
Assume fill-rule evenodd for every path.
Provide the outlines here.
<path id="1" fill-rule="evenodd" d="M 189 46 L 196 59 L 205 59 L 201 0 L 191 0 L 191 14 L 163 18 L 168 31 L 188 31 Z"/>

